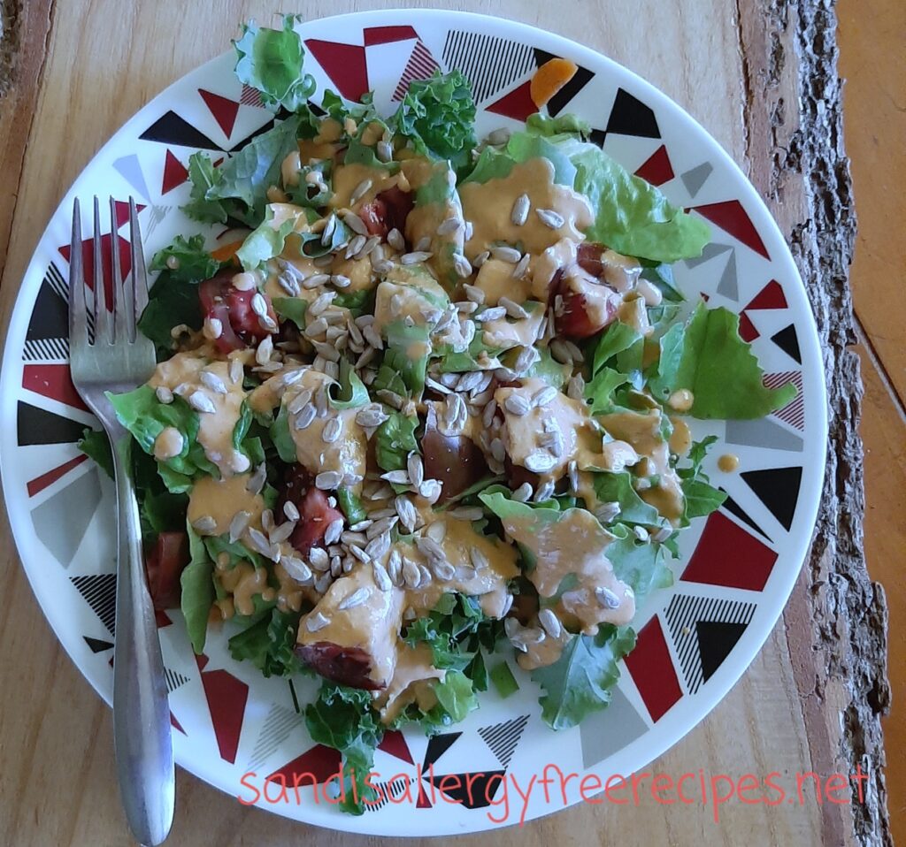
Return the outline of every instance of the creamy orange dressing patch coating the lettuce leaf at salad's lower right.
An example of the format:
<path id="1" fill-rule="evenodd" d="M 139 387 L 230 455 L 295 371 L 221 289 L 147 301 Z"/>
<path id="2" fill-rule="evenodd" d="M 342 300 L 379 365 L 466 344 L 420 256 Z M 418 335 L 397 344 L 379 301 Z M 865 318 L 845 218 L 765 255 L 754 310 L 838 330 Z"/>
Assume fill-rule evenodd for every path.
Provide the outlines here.
<path id="1" fill-rule="evenodd" d="M 629 586 L 613 573 L 606 550 L 614 537 L 584 509 L 567 509 L 554 519 L 531 512 L 525 517 L 503 519 L 506 534 L 535 555 L 528 578 L 542 597 L 553 597 L 567 576 L 568 587 L 555 606 L 557 617 L 577 625 L 583 633 L 597 632 L 599 623 L 629 623 L 635 614 L 635 597 Z M 597 590 L 611 592 L 609 608 Z"/>

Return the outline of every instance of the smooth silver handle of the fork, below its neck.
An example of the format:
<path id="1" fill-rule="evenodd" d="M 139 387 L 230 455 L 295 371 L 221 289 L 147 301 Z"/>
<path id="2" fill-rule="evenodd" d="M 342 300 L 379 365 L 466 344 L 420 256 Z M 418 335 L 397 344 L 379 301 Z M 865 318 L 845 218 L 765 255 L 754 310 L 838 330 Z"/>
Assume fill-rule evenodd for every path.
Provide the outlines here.
<path id="1" fill-rule="evenodd" d="M 139 504 L 125 431 L 108 433 L 117 491 L 113 747 L 120 795 L 140 844 L 157 845 L 173 823 L 175 774 L 158 628 L 141 551 Z"/>

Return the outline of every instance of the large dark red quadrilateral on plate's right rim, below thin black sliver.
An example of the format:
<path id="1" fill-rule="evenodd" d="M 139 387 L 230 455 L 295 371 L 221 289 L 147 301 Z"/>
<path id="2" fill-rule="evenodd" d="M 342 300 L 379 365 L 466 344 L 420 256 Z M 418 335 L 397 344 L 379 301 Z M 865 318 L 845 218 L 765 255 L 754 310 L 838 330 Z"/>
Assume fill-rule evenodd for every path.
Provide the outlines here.
<path id="1" fill-rule="evenodd" d="M 732 565 L 728 550 L 732 550 Z M 711 512 L 699 546 L 679 578 L 685 582 L 763 591 L 777 554 L 722 512 Z"/>

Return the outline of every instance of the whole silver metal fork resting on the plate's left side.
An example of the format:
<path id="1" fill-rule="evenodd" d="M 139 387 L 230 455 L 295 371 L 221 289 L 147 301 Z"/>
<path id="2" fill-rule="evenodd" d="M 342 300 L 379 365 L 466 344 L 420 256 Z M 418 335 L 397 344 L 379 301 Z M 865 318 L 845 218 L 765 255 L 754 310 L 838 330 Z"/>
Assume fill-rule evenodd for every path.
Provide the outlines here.
<path id="1" fill-rule="evenodd" d="M 132 270 L 123 284 L 111 197 L 113 297 L 107 309 L 101 256 L 101 215 L 94 198 L 93 319 L 89 338 L 82 269 L 82 218 L 72 208 L 69 338 L 72 383 L 97 415 L 113 448 L 117 492 L 116 645 L 113 653 L 113 747 L 120 795 L 132 833 L 145 845 L 163 842 L 173 821 L 175 776 L 167 684 L 154 609 L 141 555 L 139 506 L 128 466 L 128 433 L 104 392 L 131 391 L 151 376 L 154 345 L 138 331 L 148 303 L 148 276 L 135 201 L 129 202 Z"/>

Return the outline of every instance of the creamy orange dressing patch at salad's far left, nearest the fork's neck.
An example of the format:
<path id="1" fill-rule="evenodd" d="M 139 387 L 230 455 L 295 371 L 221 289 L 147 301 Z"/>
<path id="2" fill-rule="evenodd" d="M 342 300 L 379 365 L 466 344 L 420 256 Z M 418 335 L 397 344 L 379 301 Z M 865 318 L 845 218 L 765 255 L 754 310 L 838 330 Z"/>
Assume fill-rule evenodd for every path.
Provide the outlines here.
<path id="1" fill-rule="evenodd" d="M 219 379 L 226 388 L 226 394 L 205 385 L 201 381 L 202 371 Z M 247 469 L 246 457 L 233 447 L 233 430 L 242 414 L 246 391 L 241 379 L 235 383 L 230 379 L 227 362 L 210 360 L 204 348 L 176 353 L 159 363 L 148 384 L 152 388 L 164 385 L 170 391 L 185 385 L 185 390 L 180 389 L 178 393 L 187 402 L 191 404 L 191 397 L 196 394 L 209 401 L 214 411 L 198 412 L 198 443 L 222 476 L 232 476 L 240 468 Z"/>

